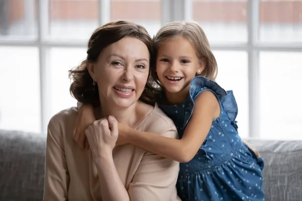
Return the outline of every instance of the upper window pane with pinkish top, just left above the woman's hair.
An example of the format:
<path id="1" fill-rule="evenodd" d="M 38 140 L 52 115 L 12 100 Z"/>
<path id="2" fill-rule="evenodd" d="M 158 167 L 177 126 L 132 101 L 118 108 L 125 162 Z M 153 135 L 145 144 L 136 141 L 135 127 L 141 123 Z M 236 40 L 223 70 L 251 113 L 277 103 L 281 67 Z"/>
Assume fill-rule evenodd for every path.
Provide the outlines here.
<path id="1" fill-rule="evenodd" d="M 87 40 L 98 28 L 97 0 L 49 0 L 51 40 Z"/>

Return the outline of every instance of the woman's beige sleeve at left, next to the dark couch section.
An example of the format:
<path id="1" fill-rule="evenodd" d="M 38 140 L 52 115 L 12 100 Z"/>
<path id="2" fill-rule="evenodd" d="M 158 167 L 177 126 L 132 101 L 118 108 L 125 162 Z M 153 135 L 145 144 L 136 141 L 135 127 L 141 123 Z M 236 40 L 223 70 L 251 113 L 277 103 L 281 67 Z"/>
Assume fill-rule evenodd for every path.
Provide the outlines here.
<path id="1" fill-rule="evenodd" d="M 62 130 L 50 120 L 47 129 L 43 200 L 68 200 L 69 174 L 63 147 Z"/>

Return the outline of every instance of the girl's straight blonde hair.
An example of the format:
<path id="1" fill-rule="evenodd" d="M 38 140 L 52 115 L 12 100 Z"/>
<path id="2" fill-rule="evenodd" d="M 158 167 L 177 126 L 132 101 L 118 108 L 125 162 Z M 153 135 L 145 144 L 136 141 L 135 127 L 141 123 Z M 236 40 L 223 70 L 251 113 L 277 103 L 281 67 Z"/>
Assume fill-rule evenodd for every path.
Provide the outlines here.
<path id="1" fill-rule="evenodd" d="M 171 39 L 173 37 L 183 37 L 191 42 L 193 45 L 198 59 L 205 58 L 206 65 L 204 70 L 201 72 L 201 76 L 207 77 L 209 79 L 215 80 L 217 76 L 217 62 L 211 51 L 210 44 L 199 26 L 194 21 L 184 22 L 171 22 L 164 25 L 154 38 L 156 45 L 156 50 L 158 51 L 160 45 L 165 40 Z M 157 55 L 157 53 L 156 53 Z M 152 75 L 159 82 L 156 68 L 152 69 Z M 199 74 L 196 73 L 195 76 Z"/>

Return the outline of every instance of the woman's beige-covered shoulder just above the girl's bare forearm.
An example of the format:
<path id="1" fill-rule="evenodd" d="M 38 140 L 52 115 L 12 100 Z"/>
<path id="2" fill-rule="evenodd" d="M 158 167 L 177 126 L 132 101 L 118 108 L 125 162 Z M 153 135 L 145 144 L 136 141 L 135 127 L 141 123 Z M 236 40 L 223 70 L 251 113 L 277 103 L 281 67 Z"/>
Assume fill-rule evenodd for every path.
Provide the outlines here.
<path id="1" fill-rule="evenodd" d="M 143 128 L 145 132 L 157 133 L 166 137 L 178 138 L 177 129 L 173 121 L 158 107 L 154 109 L 144 119 Z"/>

